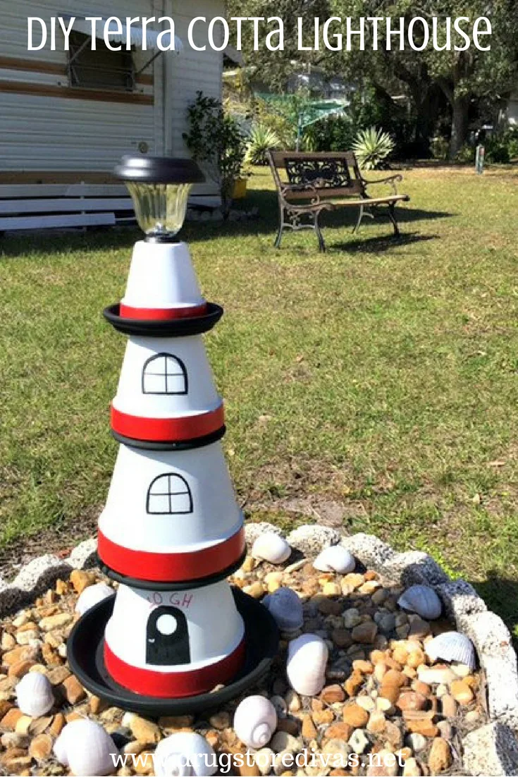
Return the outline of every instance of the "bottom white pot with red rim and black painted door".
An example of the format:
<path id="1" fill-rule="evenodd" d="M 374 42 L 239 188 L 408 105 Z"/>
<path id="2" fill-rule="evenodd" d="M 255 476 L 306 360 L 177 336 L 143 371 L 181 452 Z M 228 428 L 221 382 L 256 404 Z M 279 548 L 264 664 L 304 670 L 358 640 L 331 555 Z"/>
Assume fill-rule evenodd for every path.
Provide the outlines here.
<path id="1" fill-rule="evenodd" d="M 106 625 L 106 668 L 136 693 L 195 695 L 237 674 L 244 634 L 226 580 L 175 592 L 120 585 Z"/>

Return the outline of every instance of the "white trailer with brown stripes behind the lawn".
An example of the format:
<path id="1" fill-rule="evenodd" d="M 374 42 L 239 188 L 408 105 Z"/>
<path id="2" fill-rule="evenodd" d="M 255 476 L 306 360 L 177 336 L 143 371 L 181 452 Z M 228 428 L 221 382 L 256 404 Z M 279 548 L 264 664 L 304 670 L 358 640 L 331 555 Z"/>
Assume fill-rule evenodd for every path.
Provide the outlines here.
<path id="1" fill-rule="evenodd" d="M 109 5 L 109 8 L 107 8 Z M 113 179 L 124 154 L 187 156 L 186 108 L 196 91 L 221 97 L 221 51 L 189 46 L 196 16 L 224 16 L 224 0 L 16 0 L 0 25 L 0 232 L 14 228 L 113 224 L 132 212 Z M 27 50 L 27 19 L 75 16 L 70 51 L 57 29 L 56 50 Z M 169 16 L 181 51 L 111 52 L 102 37 L 92 51 L 88 16 Z M 102 26 L 98 25 L 102 36 Z M 133 26 L 138 38 L 139 28 Z M 150 28 L 148 28 L 149 30 Z M 37 28 L 35 27 L 35 30 Z M 155 25 L 155 30 L 159 26 Z M 140 30 L 140 33 L 142 31 Z M 207 25 L 193 27 L 207 44 Z M 155 33 L 156 38 L 156 33 Z M 130 38 L 133 40 L 133 37 Z M 211 181 L 193 202 L 219 204 Z"/>

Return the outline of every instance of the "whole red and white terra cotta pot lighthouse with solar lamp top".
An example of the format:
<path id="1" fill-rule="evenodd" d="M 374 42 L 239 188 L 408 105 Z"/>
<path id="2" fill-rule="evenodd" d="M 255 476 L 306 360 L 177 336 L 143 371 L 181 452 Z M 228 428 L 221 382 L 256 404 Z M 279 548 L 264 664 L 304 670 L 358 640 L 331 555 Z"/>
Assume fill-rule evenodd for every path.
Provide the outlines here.
<path id="1" fill-rule="evenodd" d="M 99 518 L 99 559 L 120 586 L 99 660 L 110 699 L 128 706 L 129 692 L 152 706 L 243 671 L 245 622 L 225 578 L 242 563 L 245 537 L 202 340 L 223 311 L 203 298 L 176 239 L 203 176 L 190 160 L 146 157 L 125 158 L 116 172 L 146 237 L 134 246 L 122 301 L 105 311 L 129 340 L 111 406 L 120 451 Z M 81 665 L 80 632 L 79 624 L 71 664 L 103 695 Z"/>

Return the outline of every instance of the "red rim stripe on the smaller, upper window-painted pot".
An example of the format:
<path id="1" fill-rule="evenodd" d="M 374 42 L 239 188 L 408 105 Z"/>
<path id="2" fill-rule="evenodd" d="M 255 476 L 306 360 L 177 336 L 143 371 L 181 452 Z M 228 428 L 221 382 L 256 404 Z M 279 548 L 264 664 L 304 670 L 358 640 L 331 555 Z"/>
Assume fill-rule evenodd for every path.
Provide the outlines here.
<path id="1" fill-rule="evenodd" d="M 179 442 L 194 440 L 212 434 L 224 424 L 223 403 L 208 413 L 179 418 L 143 418 L 130 416 L 115 407 L 111 408 L 111 424 L 114 432 L 133 440 Z"/>

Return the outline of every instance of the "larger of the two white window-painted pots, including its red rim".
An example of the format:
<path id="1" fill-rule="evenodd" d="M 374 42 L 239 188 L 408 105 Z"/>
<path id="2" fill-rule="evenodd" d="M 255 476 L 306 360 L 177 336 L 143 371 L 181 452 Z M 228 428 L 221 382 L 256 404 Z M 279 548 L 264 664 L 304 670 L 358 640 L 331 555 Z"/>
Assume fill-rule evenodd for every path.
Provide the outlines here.
<path id="1" fill-rule="evenodd" d="M 99 556 L 141 580 L 197 580 L 238 562 L 242 524 L 220 442 L 185 451 L 121 445 L 99 518 Z"/>

